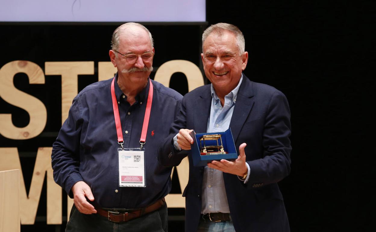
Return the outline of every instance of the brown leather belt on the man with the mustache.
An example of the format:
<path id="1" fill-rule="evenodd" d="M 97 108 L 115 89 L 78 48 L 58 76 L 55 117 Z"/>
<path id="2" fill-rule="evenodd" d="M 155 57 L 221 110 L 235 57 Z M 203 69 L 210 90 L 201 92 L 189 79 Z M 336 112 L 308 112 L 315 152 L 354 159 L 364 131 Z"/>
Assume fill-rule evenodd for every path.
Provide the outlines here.
<path id="1" fill-rule="evenodd" d="M 139 209 L 127 209 L 124 212 L 121 210 L 115 210 L 115 211 L 107 211 L 105 209 L 96 207 L 97 214 L 108 218 L 109 221 L 112 222 L 124 222 L 124 221 L 129 221 L 134 218 L 140 217 L 144 214 L 153 212 L 164 205 L 164 198 L 158 200 L 157 202 L 146 206 L 144 208 L 139 208 Z"/>

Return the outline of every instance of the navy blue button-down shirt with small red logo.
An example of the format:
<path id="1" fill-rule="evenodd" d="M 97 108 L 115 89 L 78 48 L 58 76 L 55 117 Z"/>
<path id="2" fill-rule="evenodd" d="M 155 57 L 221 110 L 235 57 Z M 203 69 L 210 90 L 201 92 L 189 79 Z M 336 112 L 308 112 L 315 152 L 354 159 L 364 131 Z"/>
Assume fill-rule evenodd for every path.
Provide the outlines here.
<path id="1" fill-rule="evenodd" d="M 149 80 L 132 106 L 116 80 L 115 95 L 124 147 L 139 147 Z M 103 208 L 144 207 L 166 196 L 171 190 L 171 168 L 159 165 L 156 152 L 159 143 L 169 134 L 182 96 L 152 80 L 153 102 L 144 145 L 146 187 L 119 187 L 119 144 L 112 109 L 111 82 L 112 79 L 93 83 L 74 98 L 68 118 L 53 143 L 54 180 L 70 197 L 73 197 L 71 188 L 74 183 L 83 180 L 91 188 L 94 202 Z"/>

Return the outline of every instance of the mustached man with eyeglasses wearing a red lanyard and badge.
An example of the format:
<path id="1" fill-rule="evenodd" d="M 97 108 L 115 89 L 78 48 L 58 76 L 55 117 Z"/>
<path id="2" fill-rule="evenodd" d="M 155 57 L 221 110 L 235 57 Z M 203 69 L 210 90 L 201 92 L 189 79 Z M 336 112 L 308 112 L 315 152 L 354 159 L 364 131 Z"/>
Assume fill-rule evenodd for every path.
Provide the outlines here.
<path id="1" fill-rule="evenodd" d="M 74 199 L 65 231 L 167 231 L 171 168 L 156 151 L 182 96 L 150 80 L 154 53 L 146 27 L 119 26 L 117 74 L 74 98 L 52 150 L 54 179 Z"/>

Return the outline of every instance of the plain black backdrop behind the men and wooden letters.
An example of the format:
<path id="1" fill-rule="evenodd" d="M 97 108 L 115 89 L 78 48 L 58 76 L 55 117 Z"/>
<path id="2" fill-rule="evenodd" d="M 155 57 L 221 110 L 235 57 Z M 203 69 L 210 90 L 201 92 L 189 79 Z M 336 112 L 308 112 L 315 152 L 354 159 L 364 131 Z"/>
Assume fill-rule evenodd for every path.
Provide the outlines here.
<path id="1" fill-rule="evenodd" d="M 374 218 L 375 4 L 245 2 L 208 0 L 208 24 L 145 24 L 155 40 L 155 70 L 173 59 L 202 67 L 200 39 L 207 25 L 238 26 L 249 52 L 244 73 L 281 90 L 290 103 L 291 174 L 279 186 L 291 231 L 370 230 Z M 79 76 L 81 90 L 97 80 L 97 62 L 109 61 L 111 35 L 120 24 L 2 24 L 0 67 L 14 60 L 35 62 L 43 70 L 45 61 L 94 61 L 96 73 Z M 185 94 L 184 78 L 174 74 L 170 87 Z M 61 77 L 45 76 L 44 85 L 29 85 L 26 75 L 17 74 L 14 82 L 47 108 L 47 125 L 36 138 L 8 140 L 0 135 L 1 147 L 18 147 L 29 191 L 37 148 L 52 146 L 61 126 Z M 12 113 L 16 126 L 28 124 L 26 111 L 2 99 L 0 113 Z M 45 191 L 44 184 L 35 224 L 22 225 L 21 231 L 64 230 L 66 217 L 61 226 L 45 223 Z M 173 191 L 179 193 L 176 188 Z M 184 210 L 169 209 L 169 214 L 170 231 L 183 231 Z"/>

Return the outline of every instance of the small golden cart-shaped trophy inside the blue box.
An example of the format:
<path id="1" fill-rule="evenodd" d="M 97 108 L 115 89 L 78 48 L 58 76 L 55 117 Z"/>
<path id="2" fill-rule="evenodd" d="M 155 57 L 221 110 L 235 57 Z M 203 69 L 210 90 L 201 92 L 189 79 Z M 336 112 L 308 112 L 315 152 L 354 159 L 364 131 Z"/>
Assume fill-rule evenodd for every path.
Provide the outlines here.
<path id="1" fill-rule="evenodd" d="M 227 152 L 224 151 L 220 134 L 203 135 L 199 138 L 199 140 L 201 155 L 227 154 Z M 217 142 L 217 145 L 215 145 L 215 142 Z"/>

